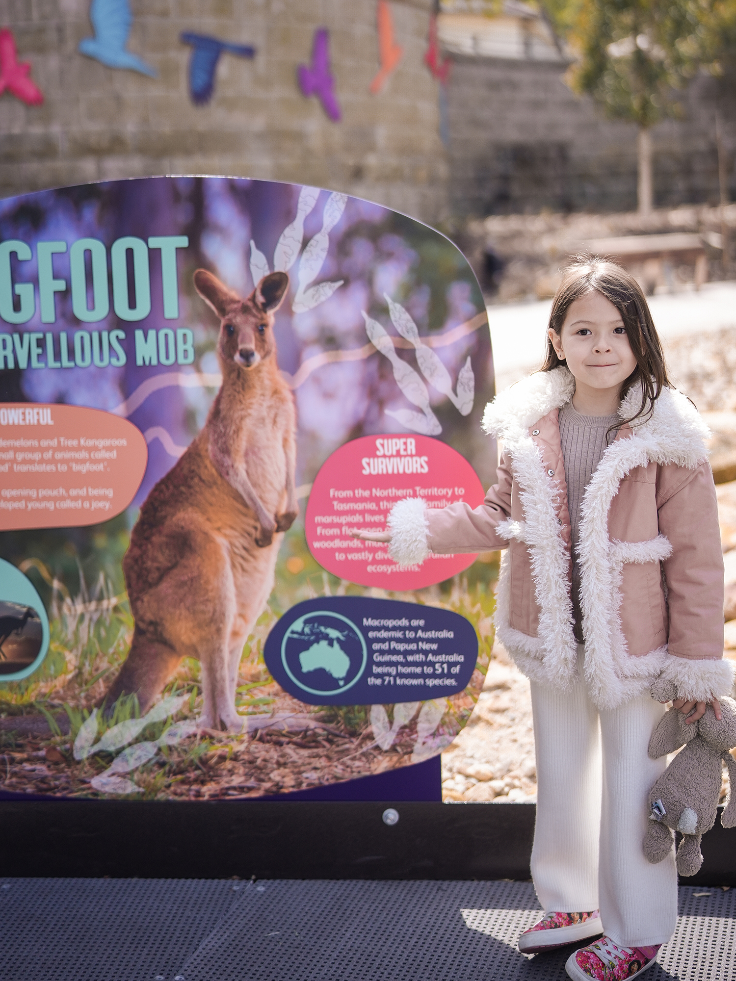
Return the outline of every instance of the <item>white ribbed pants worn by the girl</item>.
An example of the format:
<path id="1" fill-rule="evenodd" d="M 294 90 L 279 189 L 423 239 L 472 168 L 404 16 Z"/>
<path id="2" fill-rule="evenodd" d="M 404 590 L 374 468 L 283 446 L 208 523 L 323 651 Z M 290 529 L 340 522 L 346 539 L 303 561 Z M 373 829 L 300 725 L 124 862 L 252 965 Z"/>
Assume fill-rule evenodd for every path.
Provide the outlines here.
<path id="1" fill-rule="evenodd" d="M 562 695 L 532 682 L 537 824 L 532 878 L 546 912 L 601 910 L 623 947 L 663 944 L 677 919 L 674 854 L 644 856 L 649 791 L 666 760 L 647 755 L 664 707 L 632 698 L 600 711 L 583 680 Z"/>

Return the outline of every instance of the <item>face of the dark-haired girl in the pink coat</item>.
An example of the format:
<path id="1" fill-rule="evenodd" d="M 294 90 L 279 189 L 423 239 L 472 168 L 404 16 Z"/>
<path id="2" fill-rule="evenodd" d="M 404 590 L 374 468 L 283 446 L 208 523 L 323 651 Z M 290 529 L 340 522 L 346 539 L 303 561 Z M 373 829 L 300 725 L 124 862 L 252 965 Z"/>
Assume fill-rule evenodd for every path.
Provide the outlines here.
<path id="1" fill-rule="evenodd" d="M 618 390 L 636 368 L 621 314 L 597 289 L 570 304 L 559 336 L 549 334 L 578 387 Z"/>

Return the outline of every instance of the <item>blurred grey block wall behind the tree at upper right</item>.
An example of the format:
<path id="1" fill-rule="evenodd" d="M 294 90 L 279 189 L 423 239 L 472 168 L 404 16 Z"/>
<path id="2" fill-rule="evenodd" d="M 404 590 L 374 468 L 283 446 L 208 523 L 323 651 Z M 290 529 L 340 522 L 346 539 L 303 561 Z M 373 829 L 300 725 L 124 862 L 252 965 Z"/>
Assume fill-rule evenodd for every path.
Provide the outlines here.
<path id="1" fill-rule="evenodd" d="M 636 208 L 636 128 L 605 119 L 591 99 L 576 96 L 563 70 L 553 62 L 453 56 L 453 213 Z M 733 105 L 723 103 L 713 79 L 697 77 L 684 93 L 682 119 L 653 129 L 657 206 L 717 203 L 716 105 L 733 129 Z"/>

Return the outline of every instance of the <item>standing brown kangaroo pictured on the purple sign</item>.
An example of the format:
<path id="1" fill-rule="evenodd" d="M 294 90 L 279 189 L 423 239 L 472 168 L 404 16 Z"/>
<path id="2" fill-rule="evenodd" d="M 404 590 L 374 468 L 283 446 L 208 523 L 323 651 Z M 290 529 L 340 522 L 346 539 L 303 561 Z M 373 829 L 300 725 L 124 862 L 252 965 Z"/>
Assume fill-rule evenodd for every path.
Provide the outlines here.
<path id="1" fill-rule="evenodd" d="M 239 732 L 242 648 L 298 510 L 293 396 L 273 336 L 289 277 L 270 273 L 246 298 L 203 269 L 194 286 L 220 320 L 223 385 L 204 429 L 151 490 L 132 529 L 123 571 L 135 629 L 106 701 L 134 694 L 146 712 L 182 658 L 195 657 L 202 727 Z"/>

